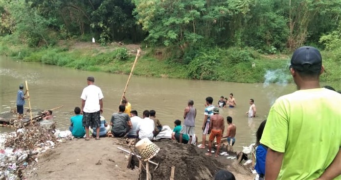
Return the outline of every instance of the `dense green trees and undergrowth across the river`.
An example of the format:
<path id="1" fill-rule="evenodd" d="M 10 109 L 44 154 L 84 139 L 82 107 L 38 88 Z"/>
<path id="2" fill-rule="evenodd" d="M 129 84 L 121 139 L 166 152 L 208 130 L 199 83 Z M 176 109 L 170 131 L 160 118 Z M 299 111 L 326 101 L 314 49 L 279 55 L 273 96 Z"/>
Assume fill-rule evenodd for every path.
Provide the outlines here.
<path id="1" fill-rule="evenodd" d="M 103 46 L 148 47 L 145 59 L 161 55 L 162 61 L 153 61 L 178 70 L 168 77 L 257 82 L 267 70 L 288 63 L 262 54 L 310 45 L 325 50 L 330 71 L 323 80 L 341 77 L 341 0 L 0 0 L 0 15 L 0 53 L 20 51 L 24 60 L 88 70 L 111 64 L 104 71 L 117 70 L 120 63 L 108 59 L 91 57 L 78 64 L 89 54 L 57 46 L 59 40 L 94 37 Z M 126 59 L 122 48 L 112 53 L 99 56 Z M 53 60 L 57 56 L 60 60 Z"/>

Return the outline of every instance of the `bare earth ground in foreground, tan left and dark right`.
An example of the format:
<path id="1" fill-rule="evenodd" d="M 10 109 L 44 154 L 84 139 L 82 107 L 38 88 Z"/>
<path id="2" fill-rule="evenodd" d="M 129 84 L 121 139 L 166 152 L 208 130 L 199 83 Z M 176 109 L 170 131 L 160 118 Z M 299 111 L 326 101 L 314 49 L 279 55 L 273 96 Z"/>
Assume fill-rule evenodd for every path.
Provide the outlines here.
<path id="1" fill-rule="evenodd" d="M 220 169 L 231 171 L 237 180 L 253 180 L 250 172 L 225 156 L 209 157 L 205 150 L 196 146 L 168 139 L 155 144 L 160 151 L 152 159 L 159 162 L 158 169 L 154 170 L 155 166 L 150 165 L 153 180 L 169 179 L 172 166 L 175 166 L 175 180 L 212 180 Z M 127 154 L 117 147 L 128 149 L 121 138 L 70 140 L 39 156 L 38 163 L 27 167 L 24 174 L 27 180 L 138 180 L 137 168 L 126 168 Z M 137 163 L 133 158 L 132 164 Z M 141 178 L 144 180 L 145 176 Z"/>

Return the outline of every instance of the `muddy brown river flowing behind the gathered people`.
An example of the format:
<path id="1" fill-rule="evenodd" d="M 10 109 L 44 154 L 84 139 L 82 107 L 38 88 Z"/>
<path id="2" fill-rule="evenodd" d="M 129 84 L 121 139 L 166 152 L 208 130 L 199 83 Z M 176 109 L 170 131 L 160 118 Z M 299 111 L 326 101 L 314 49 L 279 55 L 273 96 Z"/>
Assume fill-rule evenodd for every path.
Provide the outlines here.
<path id="1" fill-rule="evenodd" d="M 74 107 L 81 106 L 80 95 L 87 86 L 88 76 L 95 77 L 95 85 L 102 89 L 103 115 L 110 121 L 111 114 L 118 109 L 127 75 L 79 71 L 0 56 L 0 112 L 7 111 L 9 106 L 15 106 L 19 84 L 24 84 L 27 80 L 31 107 L 47 110 L 63 105 L 64 107 L 53 111 L 53 121 L 57 122 L 58 129 L 66 130 Z M 213 97 L 213 104 L 217 105 L 220 96 L 227 97 L 229 93 L 233 93 L 237 106 L 221 108 L 220 112 L 225 123 L 226 117 L 231 116 L 237 126 L 234 149 L 238 150 L 255 142 L 255 131 L 267 117 L 274 100 L 295 90 L 296 85 L 283 83 L 248 84 L 133 76 L 126 97 L 140 117 L 143 110 L 154 109 L 161 124 L 171 128 L 174 127 L 174 120 L 183 120 L 183 110 L 187 106 L 187 101 L 192 99 L 198 112 L 195 131 L 201 141 L 205 98 Z M 248 120 L 245 112 L 249 110 L 251 98 L 255 101 L 257 116 Z M 27 101 L 25 107 L 28 107 Z M 0 131 L 6 132 L 9 129 L 0 128 Z"/>

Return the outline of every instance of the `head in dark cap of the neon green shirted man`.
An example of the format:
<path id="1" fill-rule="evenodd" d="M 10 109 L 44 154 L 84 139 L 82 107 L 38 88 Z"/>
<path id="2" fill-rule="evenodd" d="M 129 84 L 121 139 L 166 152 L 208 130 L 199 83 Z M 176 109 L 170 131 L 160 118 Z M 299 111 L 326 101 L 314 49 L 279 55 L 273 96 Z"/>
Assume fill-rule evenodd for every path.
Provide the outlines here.
<path id="1" fill-rule="evenodd" d="M 297 48 L 290 63 L 290 73 L 298 89 L 306 81 L 318 83 L 319 76 L 324 72 L 321 53 L 313 47 L 303 46 Z"/>

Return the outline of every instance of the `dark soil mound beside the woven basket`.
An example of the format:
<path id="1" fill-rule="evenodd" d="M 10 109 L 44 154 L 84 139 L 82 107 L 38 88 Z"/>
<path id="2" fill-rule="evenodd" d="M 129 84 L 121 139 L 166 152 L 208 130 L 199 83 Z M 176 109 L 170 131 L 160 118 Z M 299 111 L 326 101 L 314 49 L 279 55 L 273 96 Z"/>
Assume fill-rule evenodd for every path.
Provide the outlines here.
<path id="1" fill-rule="evenodd" d="M 170 140 L 160 140 L 154 142 L 159 146 L 159 153 L 152 159 L 158 163 L 158 169 L 150 165 L 150 172 L 153 180 L 169 179 L 171 167 L 175 166 L 175 180 L 212 180 L 217 171 L 221 169 L 231 169 L 233 172 L 250 174 L 240 165 L 240 168 L 233 168 L 235 161 L 227 161 L 226 158 L 218 160 L 218 157 L 206 156 L 205 150 L 193 145 L 184 145 Z M 133 158 L 134 164 L 138 166 L 137 159 Z M 229 168 L 228 168 L 229 166 Z M 142 171 L 142 180 L 146 179 L 145 171 Z"/>

